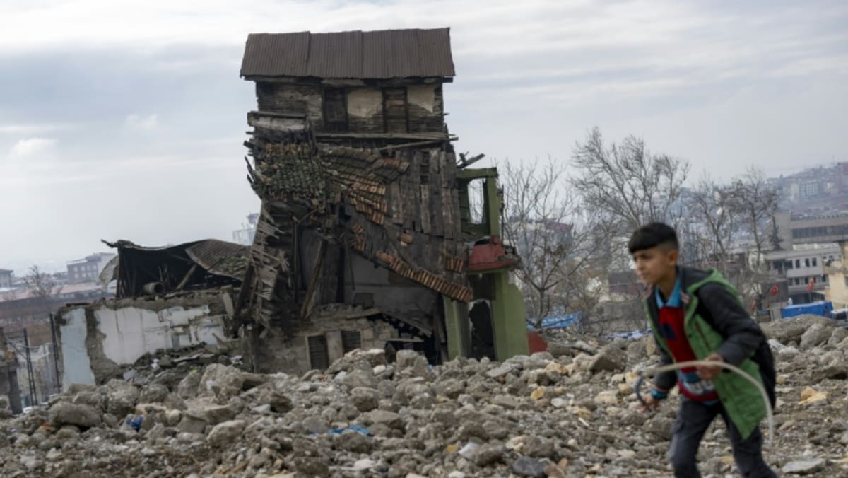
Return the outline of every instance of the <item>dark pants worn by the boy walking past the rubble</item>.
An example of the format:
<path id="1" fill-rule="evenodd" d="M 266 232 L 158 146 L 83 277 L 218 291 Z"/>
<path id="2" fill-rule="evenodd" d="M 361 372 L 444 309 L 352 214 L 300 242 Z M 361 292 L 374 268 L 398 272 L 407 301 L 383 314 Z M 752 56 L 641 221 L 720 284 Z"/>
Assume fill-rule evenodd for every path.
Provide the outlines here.
<path id="1" fill-rule="evenodd" d="M 746 440 L 742 440 L 739 430 L 736 430 L 736 426 L 730 421 L 728 413 L 720 403 L 704 405 L 686 398 L 680 399 L 678 419 L 674 422 L 672 445 L 668 451 L 674 475 L 686 478 L 700 476 L 695 457 L 698 454 L 700 439 L 717 414 L 722 415 L 724 424 L 728 426 L 730 444 L 734 448 L 734 460 L 739 467 L 739 472 L 750 478 L 777 476 L 762 459 L 762 433 L 759 428 L 754 430 Z"/>

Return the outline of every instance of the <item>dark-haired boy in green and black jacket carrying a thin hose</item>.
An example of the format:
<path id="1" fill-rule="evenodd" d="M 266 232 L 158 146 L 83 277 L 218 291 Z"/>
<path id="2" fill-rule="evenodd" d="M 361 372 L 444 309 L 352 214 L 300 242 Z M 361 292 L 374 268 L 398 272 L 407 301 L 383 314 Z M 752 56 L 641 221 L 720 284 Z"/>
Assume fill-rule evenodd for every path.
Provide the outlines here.
<path id="1" fill-rule="evenodd" d="M 660 364 L 688 360 L 726 362 L 762 380 L 774 404 L 774 363 L 765 335 L 716 271 L 678 266 L 674 229 L 658 222 L 637 229 L 628 249 L 650 293 L 645 300 Z M 776 476 L 762 458 L 762 395 L 739 374 L 721 367 L 683 368 L 654 378 L 649 408 L 678 385 L 681 401 L 669 450 L 675 476 L 700 476 L 696 455 L 716 415 L 728 427 L 734 460 L 744 476 Z"/>

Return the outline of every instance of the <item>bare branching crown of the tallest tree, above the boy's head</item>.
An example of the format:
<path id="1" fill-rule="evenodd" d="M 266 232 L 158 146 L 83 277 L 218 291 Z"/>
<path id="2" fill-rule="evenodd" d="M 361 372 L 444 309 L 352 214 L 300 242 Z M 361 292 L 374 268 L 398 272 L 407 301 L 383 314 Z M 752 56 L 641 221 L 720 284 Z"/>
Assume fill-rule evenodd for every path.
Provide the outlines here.
<path id="1" fill-rule="evenodd" d="M 572 159 L 579 171 L 574 187 L 585 204 L 619 222 L 622 232 L 648 222 L 678 222 L 688 162 L 653 155 L 633 136 L 607 146 L 597 127 L 577 143 Z"/>

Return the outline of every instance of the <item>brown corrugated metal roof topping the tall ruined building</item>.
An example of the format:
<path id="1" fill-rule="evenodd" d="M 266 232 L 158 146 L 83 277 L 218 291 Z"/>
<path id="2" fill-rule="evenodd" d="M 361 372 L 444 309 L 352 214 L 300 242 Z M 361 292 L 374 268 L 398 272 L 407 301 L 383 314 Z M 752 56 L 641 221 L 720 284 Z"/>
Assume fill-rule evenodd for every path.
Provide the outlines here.
<path id="1" fill-rule="evenodd" d="M 450 29 L 251 33 L 242 76 L 412 78 L 455 76 Z"/>

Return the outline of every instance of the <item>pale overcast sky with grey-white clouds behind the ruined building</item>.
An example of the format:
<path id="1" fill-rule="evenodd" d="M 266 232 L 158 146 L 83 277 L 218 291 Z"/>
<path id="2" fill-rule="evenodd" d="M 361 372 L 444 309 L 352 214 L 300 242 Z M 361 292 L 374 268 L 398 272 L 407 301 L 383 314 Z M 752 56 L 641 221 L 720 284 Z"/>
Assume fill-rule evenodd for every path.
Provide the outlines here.
<path id="1" fill-rule="evenodd" d="M 692 177 L 848 160 L 841 1 L 3 0 L 0 267 L 232 239 L 259 207 L 248 33 L 440 26 L 459 151 L 566 161 L 597 126 Z"/>

